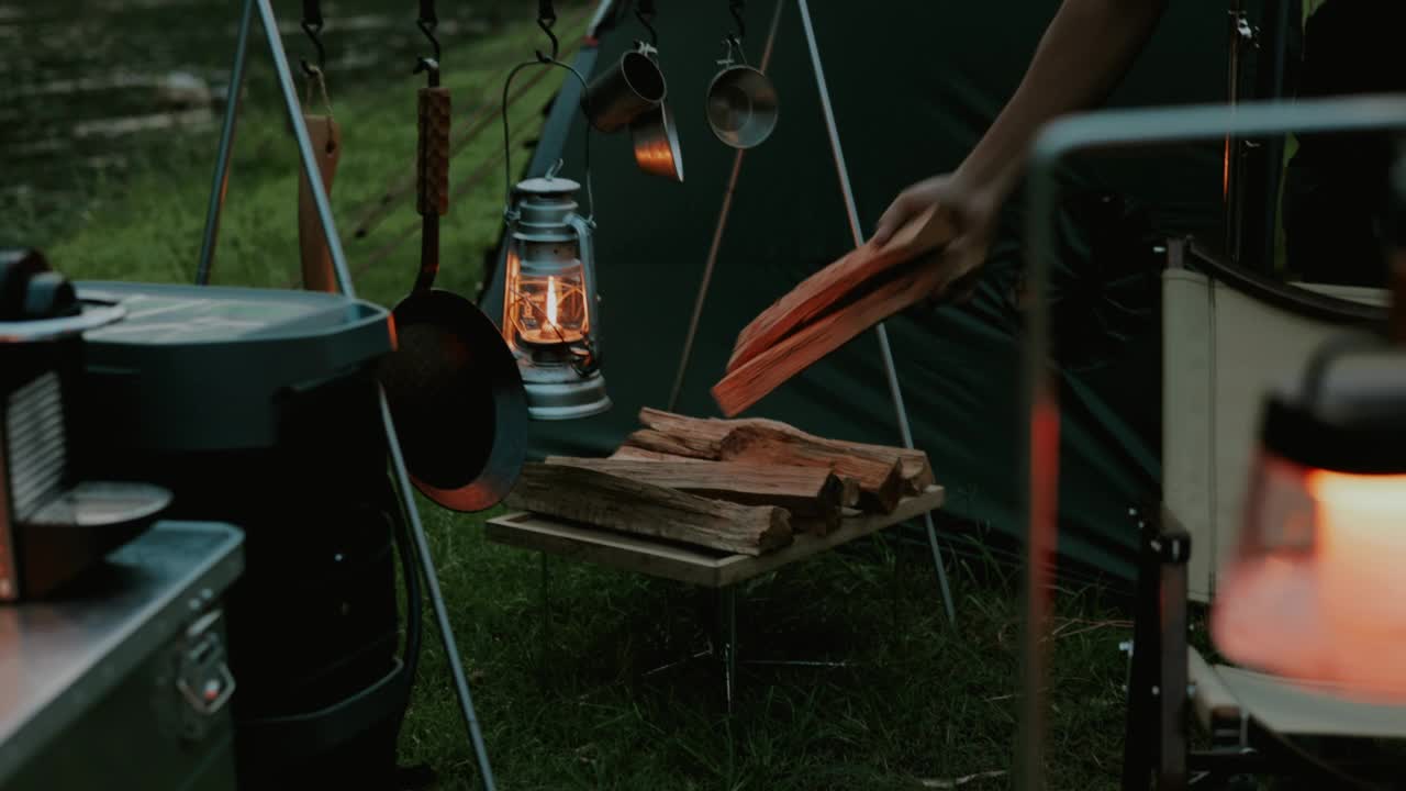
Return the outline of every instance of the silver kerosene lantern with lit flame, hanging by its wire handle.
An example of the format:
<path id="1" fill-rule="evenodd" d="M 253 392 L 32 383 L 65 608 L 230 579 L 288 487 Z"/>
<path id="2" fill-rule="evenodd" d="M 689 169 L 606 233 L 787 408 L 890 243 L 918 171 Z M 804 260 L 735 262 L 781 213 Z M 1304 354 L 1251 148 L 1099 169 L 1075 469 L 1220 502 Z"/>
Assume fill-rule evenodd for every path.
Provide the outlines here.
<path id="1" fill-rule="evenodd" d="M 600 376 L 600 315 L 591 235 L 578 214 L 581 184 L 557 176 L 519 182 L 506 211 L 503 339 L 522 370 L 533 419 L 610 408 Z"/>

